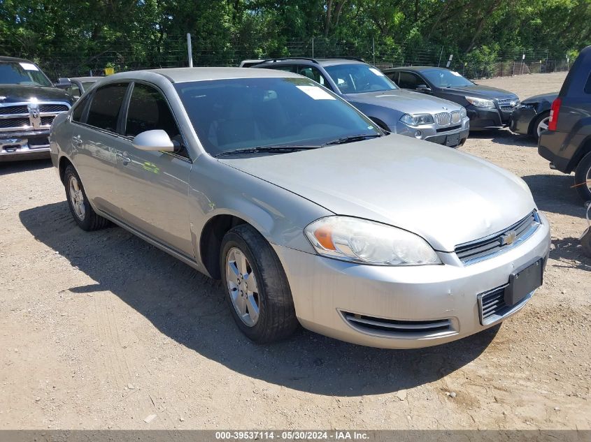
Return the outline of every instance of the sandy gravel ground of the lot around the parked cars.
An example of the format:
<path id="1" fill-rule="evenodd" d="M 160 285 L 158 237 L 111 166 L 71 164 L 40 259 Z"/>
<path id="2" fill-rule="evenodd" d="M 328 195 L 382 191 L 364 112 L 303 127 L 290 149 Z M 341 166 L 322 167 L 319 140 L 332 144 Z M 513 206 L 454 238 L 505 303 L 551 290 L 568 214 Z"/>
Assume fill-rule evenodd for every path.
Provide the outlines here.
<path id="1" fill-rule="evenodd" d="M 563 80 L 481 83 L 527 98 Z M 0 165 L 0 429 L 589 429 L 591 260 L 572 178 L 506 130 L 462 150 L 531 187 L 552 223 L 546 281 L 502 327 L 416 351 L 306 331 L 255 346 L 218 283 L 120 228 L 78 229 L 50 163 Z"/>

